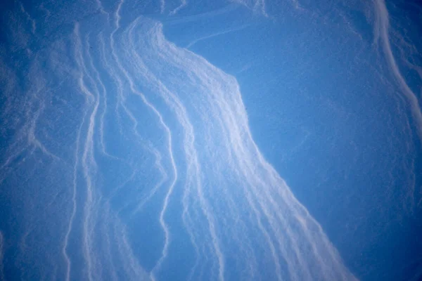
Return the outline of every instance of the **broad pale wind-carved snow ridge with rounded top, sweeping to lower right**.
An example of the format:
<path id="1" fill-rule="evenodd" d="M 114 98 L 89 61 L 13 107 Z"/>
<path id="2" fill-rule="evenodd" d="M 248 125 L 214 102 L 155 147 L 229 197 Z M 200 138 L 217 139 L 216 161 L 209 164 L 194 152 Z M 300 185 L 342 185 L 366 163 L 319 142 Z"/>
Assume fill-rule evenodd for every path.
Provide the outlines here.
<path id="1" fill-rule="evenodd" d="M 172 169 L 184 174 L 167 186 L 162 201 L 158 219 L 165 243 L 153 280 L 174 259 L 168 208 L 176 200 L 196 249 L 192 280 L 203 274 L 196 271 L 201 263 L 212 263 L 209 274 L 226 280 L 226 263 L 233 259 L 243 278 L 266 268 L 276 280 L 354 279 L 319 224 L 260 154 L 234 77 L 171 44 L 160 23 L 143 17 L 115 42 L 129 89 L 167 131 L 166 154 Z M 260 254 L 264 262 L 257 261 Z"/>

